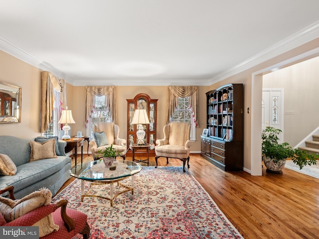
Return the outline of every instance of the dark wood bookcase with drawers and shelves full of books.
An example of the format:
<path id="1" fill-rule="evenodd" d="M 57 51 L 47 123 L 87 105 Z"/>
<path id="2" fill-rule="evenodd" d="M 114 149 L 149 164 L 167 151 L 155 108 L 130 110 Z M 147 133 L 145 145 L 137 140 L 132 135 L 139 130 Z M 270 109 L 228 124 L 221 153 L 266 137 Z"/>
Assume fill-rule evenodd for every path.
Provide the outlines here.
<path id="1" fill-rule="evenodd" d="M 225 171 L 244 166 L 243 84 L 206 93 L 208 135 L 201 136 L 201 157 Z"/>

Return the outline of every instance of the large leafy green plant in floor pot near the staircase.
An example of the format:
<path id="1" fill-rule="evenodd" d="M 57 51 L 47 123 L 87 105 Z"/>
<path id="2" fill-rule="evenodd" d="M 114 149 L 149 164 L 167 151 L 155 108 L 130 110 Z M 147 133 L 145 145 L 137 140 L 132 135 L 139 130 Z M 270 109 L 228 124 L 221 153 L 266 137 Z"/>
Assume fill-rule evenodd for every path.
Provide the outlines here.
<path id="1" fill-rule="evenodd" d="M 317 164 L 318 155 L 315 153 L 293 148 L 287 142 L 278 143 L 278 135 L 281 132 L 281 129 L 270 126 L 262 131 L 262 156 L 266 171 L 283 173 L 281 169 L 285 166 L 287 158 L 291 158 L 300 169 L 305 165 Z"/>

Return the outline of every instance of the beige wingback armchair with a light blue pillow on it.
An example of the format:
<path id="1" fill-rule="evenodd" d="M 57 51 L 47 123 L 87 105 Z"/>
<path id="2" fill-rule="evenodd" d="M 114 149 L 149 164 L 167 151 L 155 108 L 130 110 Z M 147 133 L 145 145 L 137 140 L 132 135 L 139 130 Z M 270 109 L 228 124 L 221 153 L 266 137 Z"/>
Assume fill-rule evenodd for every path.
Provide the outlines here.
<path id="1" fill-rule="evenodd" d="M 94 160 L 96 160 L 99 156 L 98 151 L 103 150 L 107 147 L 110 147 L 113 144 L 113 148 L 116 150 L 117 153 L 125 160 L 126 155 L 126 139 L 119 138 L 120 127 L 117 124 L 112 122 L 100 122 L 94 123 L 94 132 L 102 132 L 104 131 L 107 136 L 108 144 L 98 146 L 95 139 L 89 142 L 91 147 L 91 152 L 93 155 Z"/>

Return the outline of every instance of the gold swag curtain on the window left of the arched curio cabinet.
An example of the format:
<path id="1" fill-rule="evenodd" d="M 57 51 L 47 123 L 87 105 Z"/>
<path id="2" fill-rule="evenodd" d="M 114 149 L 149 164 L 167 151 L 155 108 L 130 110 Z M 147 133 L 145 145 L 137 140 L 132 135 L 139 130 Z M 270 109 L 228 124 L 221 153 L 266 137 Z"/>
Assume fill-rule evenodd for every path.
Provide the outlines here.
<path id="1" fill-rule="evenodd" d="M 105 96 L 105 105 L 109 110 L 112 121 L 117 124 L 117 111 L 116 111 L 116 100 L 115 100 L 115 87 L 114 86 L 86 86 L 86 97 L 85 97 L 85 126 L 89 122 L 91 114 L 94 110 L 94 99 L 95 96 Z"/>

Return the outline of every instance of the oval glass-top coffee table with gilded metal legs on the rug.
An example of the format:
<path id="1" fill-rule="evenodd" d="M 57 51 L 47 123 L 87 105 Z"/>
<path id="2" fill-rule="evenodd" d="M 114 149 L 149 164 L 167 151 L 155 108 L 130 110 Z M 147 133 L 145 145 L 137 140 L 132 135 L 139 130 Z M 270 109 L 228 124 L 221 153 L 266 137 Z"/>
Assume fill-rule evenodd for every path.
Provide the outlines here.
<path id="1" fill-rule="evenodd" d="M 139 163 L 128 160 L 116 160 L 118 164 L 115 170 L 106 168 L 103 161 L 91 161 L 85 162 L 70 169 L 70 175 L 81 179 L 81 201 L 84 197 L 98 197 L 104 198 L 110 201 L 111 207 L 113 207 L 113 200 L 122 193 L 132 191 L 134 194 L 134 175 L 142 170 L 142 166 Z M 114 164 L 113 164 L 114 165 Z M 121 184 L 120 181 L 131 177 L 131 186 Z M 90 189 L 84 192 L 85 181 L 91 182 Z M 114 183 L 124 188 L 114 195 Z M 103 197 L 99 195 L 90 194 L 94 185 L 110 184 L 110 197 Z"/>

